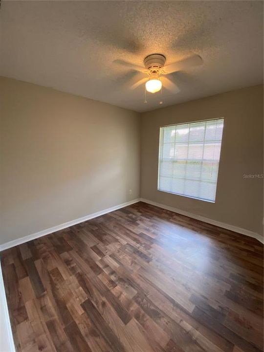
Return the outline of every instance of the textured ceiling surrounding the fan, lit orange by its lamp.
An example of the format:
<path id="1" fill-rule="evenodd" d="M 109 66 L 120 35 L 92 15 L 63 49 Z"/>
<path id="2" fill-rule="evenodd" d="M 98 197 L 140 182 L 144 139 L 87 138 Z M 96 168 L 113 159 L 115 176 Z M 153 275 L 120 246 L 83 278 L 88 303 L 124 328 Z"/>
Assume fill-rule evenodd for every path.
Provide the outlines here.
<path id="1" fill-rule="evenodd" d="M 263 83 L 263 1 L 1 1 L 0 33 L 0 75 L 135 111 Z M 144 104 L 144 74 L 114 61 L 152 53 L 203 64 Z"/>

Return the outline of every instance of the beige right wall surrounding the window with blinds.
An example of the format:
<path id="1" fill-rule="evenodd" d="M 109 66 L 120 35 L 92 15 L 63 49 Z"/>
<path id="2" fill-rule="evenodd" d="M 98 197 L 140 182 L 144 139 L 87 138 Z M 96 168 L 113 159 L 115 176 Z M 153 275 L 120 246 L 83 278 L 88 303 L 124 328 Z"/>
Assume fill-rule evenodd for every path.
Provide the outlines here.
<path id="1" fill-rule="evenodd" d="M 216 202 L 157 190 L 159 127 L 224 116 Z M 263 233 L 263 86 L 240 89 L 142 114 L 141 197 Z"/>

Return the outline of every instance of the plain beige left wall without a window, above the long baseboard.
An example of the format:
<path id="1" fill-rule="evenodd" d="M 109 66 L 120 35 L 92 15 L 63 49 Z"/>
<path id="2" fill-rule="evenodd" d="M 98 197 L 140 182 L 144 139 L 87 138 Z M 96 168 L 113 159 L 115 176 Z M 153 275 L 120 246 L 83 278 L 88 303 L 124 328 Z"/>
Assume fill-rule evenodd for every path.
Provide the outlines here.
<path id="1" fill-rule="evenodd" d="M 140 196 L 138 113 L 7 78 L 0 99 L 0 243 Z"/>

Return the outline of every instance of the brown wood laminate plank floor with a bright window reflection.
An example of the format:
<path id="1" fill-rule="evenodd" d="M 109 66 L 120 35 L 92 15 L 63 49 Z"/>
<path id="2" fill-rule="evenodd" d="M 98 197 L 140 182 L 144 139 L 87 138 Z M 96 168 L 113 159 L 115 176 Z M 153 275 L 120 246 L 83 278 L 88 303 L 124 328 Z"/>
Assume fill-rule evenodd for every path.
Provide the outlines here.
<path id="1" fill-rule="evenodd" d="M 263 245 L 136 203 L 1 253 L 18 352 L 263 351 Z"/>

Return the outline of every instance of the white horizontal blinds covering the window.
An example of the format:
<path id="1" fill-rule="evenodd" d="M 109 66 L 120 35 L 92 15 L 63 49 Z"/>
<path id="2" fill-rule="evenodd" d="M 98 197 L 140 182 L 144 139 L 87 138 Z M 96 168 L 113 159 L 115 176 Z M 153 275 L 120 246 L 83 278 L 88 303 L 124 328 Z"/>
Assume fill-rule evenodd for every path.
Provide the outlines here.
<path id="1" fill-rule="evenodd" d="M 215 201 L 223 118 L 160 128 L 158 189 Z"/>

